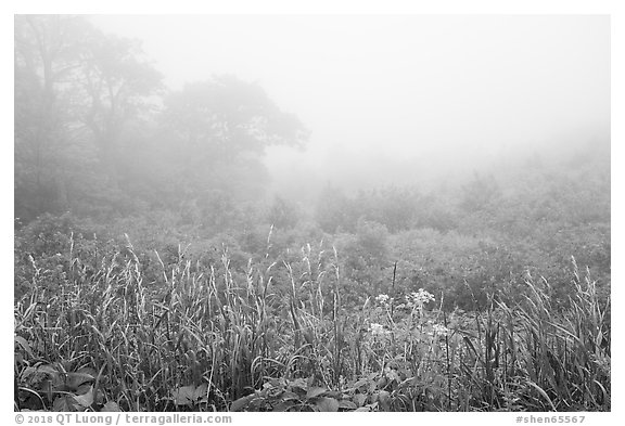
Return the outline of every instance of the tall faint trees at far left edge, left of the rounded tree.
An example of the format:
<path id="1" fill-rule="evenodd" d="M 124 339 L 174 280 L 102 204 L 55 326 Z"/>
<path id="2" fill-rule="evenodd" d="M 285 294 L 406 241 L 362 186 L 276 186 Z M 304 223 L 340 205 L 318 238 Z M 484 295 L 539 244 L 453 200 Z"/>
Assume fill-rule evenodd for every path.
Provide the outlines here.
<path id="1" fill-rule="evenodd" d="M 160 87 L 140 47 L 81 16 L 17 15 L 15 76 L 16 216 L 124 199 L 117 164 L 128 124 Z"/>

